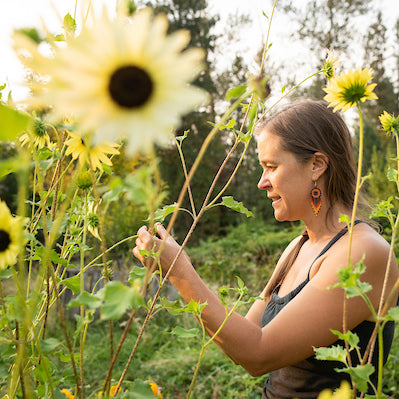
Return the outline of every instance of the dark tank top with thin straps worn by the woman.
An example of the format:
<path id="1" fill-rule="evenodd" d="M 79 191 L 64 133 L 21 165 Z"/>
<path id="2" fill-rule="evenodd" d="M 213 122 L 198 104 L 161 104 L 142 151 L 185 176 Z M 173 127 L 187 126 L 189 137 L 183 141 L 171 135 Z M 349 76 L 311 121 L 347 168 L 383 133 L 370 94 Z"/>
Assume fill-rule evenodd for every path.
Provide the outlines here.
<path id="1" fill-rule="evenodd" d="M 359 222 L 359 221 L 357 221 Z M 341 230 L 331 241 L 323 248 L 320 254 L 312 262 L 308 276 L 298 287 L 289 292 L 283 297 L 278 296 L 280 285 L 274 290 L 269 303 L 262 315 L 262 327 L 270 323 L 275 316 L 284 308 L 309 282 L 310 270 L 315 261 L 324 255 L 332 245 L 334 245 L 344 234 L 347 229 Z M 359 337 L 359 348 L 363 355 L 367 344 L 370 340 L 372 332 L 374 330 L 375 323 L 371 321 L 363 321 L 352 332 L 356 333 Z M 389 350 L 392 345 L 393 335 L 395 331 L 394 322 L 388 322 L 385 325 L 383 331 L 384 341 L 384 363 L 387 360 Z M 345 347 L 345 343 L 341 340 L 337 340 L 332 344 L 334 346 L 341 345 Z M 352 351 L 351 353 L 353 353 Z M 359 364 L 358 357 L 353 353 L 352 366 Z M 375 345 L 373 353 L 372 364 L 375 370 L 378 370 L 378 345 Z M 267 399 L 313 399 L 317 398 L 323 389 L 336 389 L 340 386 L 341 381 L 346 380 L 350 382 L 350 376 L 347 373 L 339 373 L 334 369 L 342 368 L 344 365 L 341 362 L 336 361 L 322 361 L 317 360 L 315 356 L 311 356 L 305 360 L 295 363 L 290 366 L 283 367 L 278 370 L 274 370 L 269 373 L 269 378 L 263 388 L 262 398 Z M 377 386 L 377 372 L 371 376 L 372 383 Z M 369 388 L 369 394 L 372 394 L 371 387 Z"/>

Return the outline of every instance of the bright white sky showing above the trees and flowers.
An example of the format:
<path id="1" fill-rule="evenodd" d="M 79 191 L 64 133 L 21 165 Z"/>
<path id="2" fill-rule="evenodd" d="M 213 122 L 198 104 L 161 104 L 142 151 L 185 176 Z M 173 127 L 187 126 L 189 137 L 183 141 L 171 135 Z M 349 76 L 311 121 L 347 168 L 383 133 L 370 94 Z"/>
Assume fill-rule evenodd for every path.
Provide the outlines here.
<path id="1" fill-rule="evenodd" d="M 79 0 L 87 1 L 87 0 Z M 304 0 L 295 0 L 303 3 Z M 384 21 L 388 30 L 393 30 L 394 21 L 399 18 L 398 0 L 373 0 L 385 15 Z M 116 0 L 93 0 L 96 7 L 106 4 L 115 9 Z M 262 46 L 267 31 L 267 21 L 263 12 L 270 15 L 272 0 L 209 0 L 210 10 L 219 13 L 221 25 L 230 22 L 230 16 L 240 13 L 249 14 L 251 23 L 245 30 L 240 31 L 230 43 L 230 50 L 249 57 Z M 0 0 L 0 85 L 7 84 L 15 100 L 26 96 L 23 87 L 24 71 L 12 50 L 11 34 L 14 29 L 23 27 L 40 27 L 41 19 L 51 31 L 58 31 L 62 25 L 62 18 L 66 13 L 73 14 L 75 0 Z M 271 51 L 277 52 L 279 57 L 295 58 L 296 54 L 304 54 L 300 44 L 293 43 L 287 35 L 287 21 L 278 10 L 272 24 L 270 40 L 273 42 Z M 253 71 L 254 73 L 255 71 Z M 7 91 L 6 91 L 7 93 Z"/>

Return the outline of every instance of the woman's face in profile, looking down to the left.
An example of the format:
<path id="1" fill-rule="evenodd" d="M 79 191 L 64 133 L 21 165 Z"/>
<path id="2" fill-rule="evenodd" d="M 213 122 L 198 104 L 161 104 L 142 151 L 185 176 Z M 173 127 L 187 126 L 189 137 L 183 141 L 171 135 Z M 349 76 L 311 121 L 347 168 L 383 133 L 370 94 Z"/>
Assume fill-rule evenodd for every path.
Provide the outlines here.
<path id="1" fill-rule="evenodd" d="M 282 222 L 312 215 L 312 161 L 299 162 L 293 153 L 282 149 L 281 138 L 267 130 L 259 136 L 258 155 L 263 168 L 258 187 L 273 201 L 274 217 Z"/>

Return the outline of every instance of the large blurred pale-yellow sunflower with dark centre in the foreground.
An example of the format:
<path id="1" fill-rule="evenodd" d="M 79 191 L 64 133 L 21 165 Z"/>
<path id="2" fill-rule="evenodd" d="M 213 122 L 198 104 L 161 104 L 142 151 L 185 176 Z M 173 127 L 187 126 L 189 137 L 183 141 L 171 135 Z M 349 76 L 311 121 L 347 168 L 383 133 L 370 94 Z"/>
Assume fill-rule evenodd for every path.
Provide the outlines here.
<path id="1" fill-rule="evenodd" d="M 165 15 L 149 8 L 131 19 L 111 19 L 106 10 L 65 46 L 42 55 L 27 37 L 16 35 L 20 58 L 42 79 L 33 82 L 34 106 L 70 115 L 95 140 L 128 139 L 131 151 L 165 143 L 180 116 L 204 103 L 204 91 L 190 86 L 203 68 L 201 49 L 183 51 L 189 33 L 167 35 Z"/>

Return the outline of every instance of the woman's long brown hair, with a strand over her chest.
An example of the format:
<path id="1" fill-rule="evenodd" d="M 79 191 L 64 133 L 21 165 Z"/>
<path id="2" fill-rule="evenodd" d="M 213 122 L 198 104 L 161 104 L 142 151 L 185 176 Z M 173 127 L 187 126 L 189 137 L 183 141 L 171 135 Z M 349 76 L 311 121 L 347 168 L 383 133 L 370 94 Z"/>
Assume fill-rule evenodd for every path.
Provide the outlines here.
<path id="1" fill-rule="evenodd" d="M 261 122 L 256 134 L 259 135 L 266 129 L 269 133 L 279 136 L 282 139 L 282 148 L 293 153 L 300 162 L 308 161 L 316 152 L 328 157 L 323 193 L 329 201 L 327 218 L 336 204 L 352 209 L 356 167 L 351 135 L 339 113 L 333 112 L 324 101 L 300 101 Z M 363 198 L 359 205 L 361 208 L 365 207 Z M 270 281 L 266 297 L 272 294 L 287 275 L 305 241 L 306 236 L 303 236 L 287 255 L 280 266 L 280 272 Z"/>

